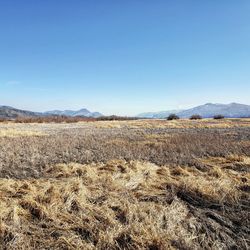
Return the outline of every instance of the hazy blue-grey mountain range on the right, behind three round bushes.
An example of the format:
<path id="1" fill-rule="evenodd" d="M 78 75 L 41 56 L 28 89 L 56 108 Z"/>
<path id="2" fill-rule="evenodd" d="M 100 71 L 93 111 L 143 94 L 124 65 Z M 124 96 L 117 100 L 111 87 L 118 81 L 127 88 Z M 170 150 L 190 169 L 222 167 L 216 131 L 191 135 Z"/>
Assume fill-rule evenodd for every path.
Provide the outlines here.
<path id="1" fill-rule="evenodd" d="M 215 115 L 223 115 L 228 118 L 250 117 L 250 105 L 230 103 L 206 103 L 191 109 L 186 110 L 171 110 L 155 113 L 139 114 L 138 117 L 144 118 L 166 118 L 170 113 L 175 113 L 181 118 L 189 118 L 192 115 L 200 115 L 203 118 L 211 118 Z"/>

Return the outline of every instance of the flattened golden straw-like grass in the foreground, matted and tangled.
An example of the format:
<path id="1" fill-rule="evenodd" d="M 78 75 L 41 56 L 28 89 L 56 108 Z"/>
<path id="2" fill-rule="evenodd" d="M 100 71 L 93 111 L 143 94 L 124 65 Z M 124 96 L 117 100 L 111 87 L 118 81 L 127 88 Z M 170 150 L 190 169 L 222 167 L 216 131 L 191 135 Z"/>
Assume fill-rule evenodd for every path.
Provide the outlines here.
<path id="1" fill-rule="evenodd" d="M 242 187 L 249 187 L 249 172 L 233 173 L 222 159 L 205 161 L 205 171 L 123 160 L 57 164 L 40 179 L 1 179 L 0 243 L 8 249 L 247 249 L 250 197 Z"/>

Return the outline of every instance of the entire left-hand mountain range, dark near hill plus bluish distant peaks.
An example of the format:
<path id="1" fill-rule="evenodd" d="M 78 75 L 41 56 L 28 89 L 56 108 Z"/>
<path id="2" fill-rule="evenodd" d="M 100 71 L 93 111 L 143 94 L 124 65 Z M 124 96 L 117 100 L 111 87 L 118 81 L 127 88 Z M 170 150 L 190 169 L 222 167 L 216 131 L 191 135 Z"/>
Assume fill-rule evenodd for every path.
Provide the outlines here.
<path id="1" fill-rule="evenodd" d="M 73 110 L 53 110 L 46 112 L 32 112 L 28 110 L 16 109 L 9 106 L 0 106 L 0 118 L 14 119 L 17 117 L 36 117 L 36 116 L 52 116 L 52 115 L 63 115 L 63 116 L 84 116 L 84 117 L 100 117 L 103 114 L 99 112 L 90 112 L 87 109 L 80 109 L 77 111 Z"/>

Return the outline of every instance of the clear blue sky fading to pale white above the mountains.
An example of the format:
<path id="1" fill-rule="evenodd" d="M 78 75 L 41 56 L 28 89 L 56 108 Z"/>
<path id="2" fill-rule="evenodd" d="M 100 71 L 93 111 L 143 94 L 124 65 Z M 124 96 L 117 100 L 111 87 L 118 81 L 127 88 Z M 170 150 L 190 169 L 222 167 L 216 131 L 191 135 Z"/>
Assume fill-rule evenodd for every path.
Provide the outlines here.
<path id="1" fill-rule="evenodd" d="M 1 0 L 0 105 L 250 104 L 249 0 Z"/>

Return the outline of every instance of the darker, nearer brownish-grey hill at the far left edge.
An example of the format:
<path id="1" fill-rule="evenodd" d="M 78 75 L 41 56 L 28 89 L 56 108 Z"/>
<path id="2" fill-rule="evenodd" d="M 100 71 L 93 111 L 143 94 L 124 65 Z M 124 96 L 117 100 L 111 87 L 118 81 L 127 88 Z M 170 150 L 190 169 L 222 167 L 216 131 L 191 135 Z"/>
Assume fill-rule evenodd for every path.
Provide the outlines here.
<path id="1" fill-rule="evenodd" d="M 17 117 L 34 117 L 39 115 L 41 114 L 37 112 L 16 109 L 9 106 L 0 106 L 0 118 L 13 119 Z"/>

